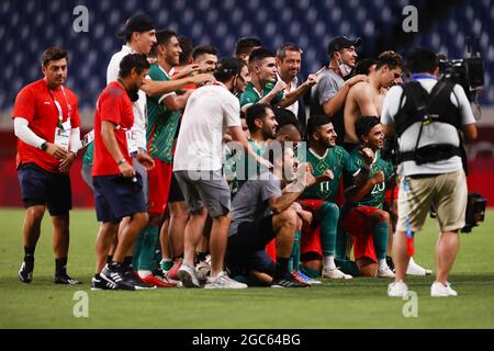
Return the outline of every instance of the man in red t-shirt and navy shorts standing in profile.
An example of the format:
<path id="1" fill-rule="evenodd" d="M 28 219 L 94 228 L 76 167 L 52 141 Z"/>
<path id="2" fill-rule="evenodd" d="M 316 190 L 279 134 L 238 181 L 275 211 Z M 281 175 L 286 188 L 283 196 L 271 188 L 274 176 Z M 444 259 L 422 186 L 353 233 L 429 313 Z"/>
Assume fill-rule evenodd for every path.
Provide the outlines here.
<path id="1" fill-rule="evenodd" d="M 153 159 L 137 145 L 132 132 L 134 114 L 132 101 L 148 72 L 144 55 L 130 54 L 120 63 L 119 80 L 111 82 L 98 99 L 94 114 L 94 161 L 92 167 L 94 206 L 102 223 L 97 238 L 94 290 L 142 290 L 156 287 L 136 280 L 123 259 L 134 245 L 148 216 L 143 194 L 143 179 L 132 166 L 136 158 L 148 170 Z M 128 220 L 121 228 L 121 238 L 113 260 L 104 265 L 110 246 L 119 231 L 122 218 Z"/>

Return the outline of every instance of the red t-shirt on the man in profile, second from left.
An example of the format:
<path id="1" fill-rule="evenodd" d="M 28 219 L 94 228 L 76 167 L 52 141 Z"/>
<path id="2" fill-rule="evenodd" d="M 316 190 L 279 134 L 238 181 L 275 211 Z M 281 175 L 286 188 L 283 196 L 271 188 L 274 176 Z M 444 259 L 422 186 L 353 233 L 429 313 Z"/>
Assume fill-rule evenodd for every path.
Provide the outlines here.
<path id="1" fill-rule="evenodd" d="M 94 160 L 92 163 L 92 176 L 112 176 L 121 173 L 119 166 L 106 150 L 101 137 L 102 121 L 109 121 L 116 127 L 114 129 L 116 144 L 127 162 L 132 165 L 128 156 L 126 131 L 134 125 L 132 102 L 125 88 L 117 81 L 113 81 L 104 88 L 98 98 L 94 114 Z"/>

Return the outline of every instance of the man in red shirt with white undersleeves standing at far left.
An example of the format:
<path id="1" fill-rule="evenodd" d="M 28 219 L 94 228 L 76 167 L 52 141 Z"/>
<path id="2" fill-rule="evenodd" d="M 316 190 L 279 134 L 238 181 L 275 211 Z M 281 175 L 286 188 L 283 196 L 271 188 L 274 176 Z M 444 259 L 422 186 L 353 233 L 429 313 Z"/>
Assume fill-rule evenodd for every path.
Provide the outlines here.
<path id="1" fill-rule="evenodd" d="M 43 53 L 43 79 L 24 87 L 15 99 L 12 118 L 18 137 L 16 168 L 22 201 L 26 207 L 23 226 L 24 260 L 19 271 L 31 283 L 34 250 L 41 223 L 48 207 L 53 224 L 55 284 L 80 284 L 67 274 L 71 190 L 68 171 L 80 146 L 77 97 L 64 87 L 67 53 L 49 47 Z"/>

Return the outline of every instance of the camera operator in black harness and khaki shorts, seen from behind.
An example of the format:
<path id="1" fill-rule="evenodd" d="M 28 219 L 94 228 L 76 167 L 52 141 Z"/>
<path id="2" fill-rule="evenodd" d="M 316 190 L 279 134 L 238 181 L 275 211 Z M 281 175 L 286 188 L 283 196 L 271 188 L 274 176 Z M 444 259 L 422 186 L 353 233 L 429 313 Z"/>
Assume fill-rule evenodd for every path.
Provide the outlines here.
<path id="1" fill-rule="evenodd" d="M 393 87 L 384 100 L 381 122 L 386 137 L 397 136 L 398 222 L 393 244 L 396 269 L 389 296 L 404 296 L 403 282 L 413 251 L 413 234 L 424 225 L 431 205 L 437 208 L 440 234 L 436 245 L 436 281 L 431 296 L 456 296 L 448 274 L 464 226 L 467 179 L 460 158 L 460 134 L 476 138 L 473 113 L 461 86 L 438 81 L 436 54 L 417 48 L 408 57 L 412 81 Z"/>

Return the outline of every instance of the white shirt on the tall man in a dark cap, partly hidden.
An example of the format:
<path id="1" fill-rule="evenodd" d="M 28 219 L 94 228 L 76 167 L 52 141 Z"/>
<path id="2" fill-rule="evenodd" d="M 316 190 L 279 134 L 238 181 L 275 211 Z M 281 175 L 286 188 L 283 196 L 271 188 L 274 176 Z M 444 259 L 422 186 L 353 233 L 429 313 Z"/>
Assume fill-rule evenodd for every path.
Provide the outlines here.
<path id="1" fill-rule="evenodd" d="M 119 79 L 120 61 L 128 54 L 135 54 L 132 47 L 122 45 L 122 49 L 114 54 L 108 65 L 106 69 L 106 84 Z M 132 104 L 132 111 L 134 112 L 134 126 L 133 129 L 137 135 L 137 146 L 142 149 L 146 149 L 146 93 L 142 90 L 138 91 L 139 99 Z"/>

